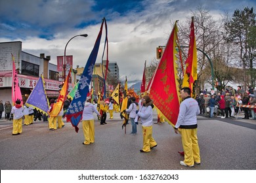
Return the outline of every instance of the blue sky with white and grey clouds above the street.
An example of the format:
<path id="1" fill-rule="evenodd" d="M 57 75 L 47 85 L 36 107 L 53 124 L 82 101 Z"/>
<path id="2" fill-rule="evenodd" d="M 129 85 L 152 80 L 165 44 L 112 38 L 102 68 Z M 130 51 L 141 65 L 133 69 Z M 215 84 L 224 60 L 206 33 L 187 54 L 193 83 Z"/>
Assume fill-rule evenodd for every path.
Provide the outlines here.
<path id="1" fill-rule="evenodd" d="M 74 67 L 85 67 L 100 30 L 108 24 L 109 60 L 117 62 L 121 80 L 141 80 L 144 61 L 156 58 L 156 47 L 165 45 L 173 28 L 202 5 L 216 19 L 244 7 L 256 8 L 255 0 L 0 0 L 0 42 L 22 41 L 22 50 L 35 56 L 45 53 L 56 64 L 66 48 Z M 105 33 L 96 63 L 101 62 Z"/>

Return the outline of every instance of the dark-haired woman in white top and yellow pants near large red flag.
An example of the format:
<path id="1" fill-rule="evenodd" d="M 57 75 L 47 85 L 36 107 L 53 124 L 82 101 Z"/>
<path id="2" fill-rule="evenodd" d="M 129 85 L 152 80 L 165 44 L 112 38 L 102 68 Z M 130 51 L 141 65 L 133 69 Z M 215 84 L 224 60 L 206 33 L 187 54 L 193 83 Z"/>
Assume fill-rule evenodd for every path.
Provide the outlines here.
<path id="1" fill-rule="evenodd" d="M 142 123 L 142 135 L 143 135 L 143 148 L 140 152 L 150 152 L 150 149 L 158 146 L 154 138 L 152 137 L 153 133 L 153 110 L 154 108 L 153 101 L 148 95 L 145 95 L 142 98 L 142 107 L 138 110 L 137 115 L 140 117 Z"/>

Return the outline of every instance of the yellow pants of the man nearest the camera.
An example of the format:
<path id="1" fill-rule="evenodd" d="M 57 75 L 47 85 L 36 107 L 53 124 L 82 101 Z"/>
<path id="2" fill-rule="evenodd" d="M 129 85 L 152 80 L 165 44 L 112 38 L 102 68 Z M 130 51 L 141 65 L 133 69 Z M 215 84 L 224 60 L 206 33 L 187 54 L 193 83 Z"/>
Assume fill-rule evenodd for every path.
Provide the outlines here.
<path id="1" fill-rule="evenodd" d="M 200 163 L 200 149 L 198 146 L 198 129 L 179 128 L 181 133 L 182 146 L 184 150 L 184 163 L 191 166 L 194 162 Z"/>

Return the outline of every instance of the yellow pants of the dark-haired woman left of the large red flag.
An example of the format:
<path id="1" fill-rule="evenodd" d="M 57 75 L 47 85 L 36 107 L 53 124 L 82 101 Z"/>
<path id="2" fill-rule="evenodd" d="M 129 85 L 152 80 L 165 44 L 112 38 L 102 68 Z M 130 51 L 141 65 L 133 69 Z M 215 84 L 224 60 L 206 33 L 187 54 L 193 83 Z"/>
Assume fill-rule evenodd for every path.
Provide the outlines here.
<path id="1" fill-rule="evenodd" d="M 152 137 L 153 127 L 152 126 L 142 126 L 143 135 L 143 148 L 144 152 L 150 152 L 150 147 L 156 146 L 156 141 Z"/>

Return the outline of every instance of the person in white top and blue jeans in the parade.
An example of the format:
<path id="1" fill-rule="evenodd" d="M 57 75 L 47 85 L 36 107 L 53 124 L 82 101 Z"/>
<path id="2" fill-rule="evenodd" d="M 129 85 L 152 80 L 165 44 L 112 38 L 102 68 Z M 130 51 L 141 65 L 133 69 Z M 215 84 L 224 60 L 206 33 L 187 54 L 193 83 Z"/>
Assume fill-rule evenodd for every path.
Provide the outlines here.
<path id="1" fill-rule="evenodd" d="M 139 109 L 139 105 L 136 102 L 135 97 L 131 97 L 131 105 L 129 108 L 125 110 L 125 112 L 129 113 L 129 118 L 131 119 L 131 135 L 136 135 L 137 134 L 137 124 L 135 124 L 135 117 L 137 116 L 136 110 Z"/>

